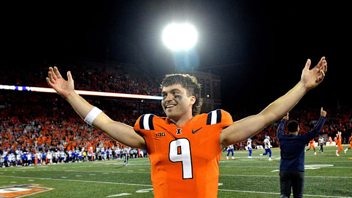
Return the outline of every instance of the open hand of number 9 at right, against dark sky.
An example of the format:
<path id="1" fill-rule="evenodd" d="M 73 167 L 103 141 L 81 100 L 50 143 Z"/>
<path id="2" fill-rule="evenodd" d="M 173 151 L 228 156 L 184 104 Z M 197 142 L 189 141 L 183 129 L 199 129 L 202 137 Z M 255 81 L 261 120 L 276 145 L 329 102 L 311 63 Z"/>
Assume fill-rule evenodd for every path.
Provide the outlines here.
<path id="1" fill-rule="evenodd" d="M 308 59 L 301 75 L 301 82 L 305 85 L 307 90 L 318 86 L 323 81 L 325 73 L 328 70 L 328 65 L 325 57 L 322 57 L 318 65 L 309 70 L 310 63 L 310 59 Z"/>

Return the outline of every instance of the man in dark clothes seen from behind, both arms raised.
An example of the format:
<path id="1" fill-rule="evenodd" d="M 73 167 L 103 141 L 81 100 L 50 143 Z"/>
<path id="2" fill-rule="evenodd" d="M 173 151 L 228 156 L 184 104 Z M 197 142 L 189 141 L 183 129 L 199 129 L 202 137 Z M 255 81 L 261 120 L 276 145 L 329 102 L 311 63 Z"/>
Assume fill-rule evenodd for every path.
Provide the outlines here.
<path id="1" fill-rule="evenodd" d="M 288 113 L 283 117 L 277 130 L 277 139 L 280 143 L 280 198 L 289 198 L 291 187 L 294 198 L 302 198 L 305 183 L 305 147 L 306 144 L 318 135 L 323 128 L 327 112 L 321 108 L 320 118 L 314 128 L 307 133 L 299 133 L 298 122 L 291 120 L 287 123 L 288 134 L 284 128 L 288 120 Z"/>

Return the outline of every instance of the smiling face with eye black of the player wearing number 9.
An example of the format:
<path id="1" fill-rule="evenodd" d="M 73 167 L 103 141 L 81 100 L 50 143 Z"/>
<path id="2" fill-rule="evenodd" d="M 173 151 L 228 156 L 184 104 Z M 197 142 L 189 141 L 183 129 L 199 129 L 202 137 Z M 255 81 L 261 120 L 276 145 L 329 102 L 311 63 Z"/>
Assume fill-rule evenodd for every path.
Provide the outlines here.
<path id="1" fill-rule="evenodd" d="M 168 118 L 177 122 L 179 119 L 192 118 L 192 106 L 196 102 L 195 96 L 189 96 L 187 89 L 176 84 L 163 87 L 161 91 L 161 106 Z"/>

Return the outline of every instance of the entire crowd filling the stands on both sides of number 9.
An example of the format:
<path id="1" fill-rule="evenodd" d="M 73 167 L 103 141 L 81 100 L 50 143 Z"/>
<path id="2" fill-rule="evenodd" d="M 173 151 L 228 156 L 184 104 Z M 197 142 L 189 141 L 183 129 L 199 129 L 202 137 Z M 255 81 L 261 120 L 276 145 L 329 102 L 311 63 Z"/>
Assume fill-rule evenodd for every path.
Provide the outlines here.
<path id="1" fill-rule="evenodd" d="M 133 78 L 132 75 L 91 69 L 79 66 L 71 69 L 75 88 L 123 92 L 132 94 L 159 95 L 158 83 L 153 80 Z M 1 70 L 0 85 L 48 87 L 45 77 L 47 67 L 36 71 L 23 69 Z M 165 116 L 160 101 L 137 99 L 112 99 L 84 96 L 94 106 L 103 110 L 111 119 L 133 126 L 137 118 L 145 113 Z M 335 137 L 342 132 L 343 143 L 351 136 L 350 107 L 326 108 L 329 116 L 320 132 Z M 232 114 L 234 121 L 249 114 Z M 300 123 L 301 132 L 308 132 L 319 119 L 320 110 L 294 109 L 290 119 Z M 276 130 L 280 120 L 264 128 L 252 137 L 252 144 L 263 145 L 264 137 L 270 136 L 271 145 L 278 147 Z M 245 142 L 234 145 L 242 150 Z M 131 157 L 146 157 L 146 151 L 128 148 L 108 135 L 87 125 L 56 93 L 40 93 L 15 90 L 0 90 L 0 167 L 32 164 L 70 163 L 88 160 L 110 160 Z"/>

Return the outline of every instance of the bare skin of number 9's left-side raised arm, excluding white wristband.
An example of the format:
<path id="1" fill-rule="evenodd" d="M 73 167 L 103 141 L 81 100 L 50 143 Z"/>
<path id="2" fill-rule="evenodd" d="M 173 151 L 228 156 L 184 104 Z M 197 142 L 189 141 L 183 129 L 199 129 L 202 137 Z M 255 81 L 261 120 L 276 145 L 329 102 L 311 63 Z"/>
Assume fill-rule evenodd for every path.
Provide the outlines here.
<path id="1" fill-rule="evenodd" d="M 66 81 L 60 74 L 58 68 L 49 67 L 49 77 L 46 78 L 48 85 L 63 96 L 73 109 L 83 119 L 94 108 L 84 98 L 74 91 L 74 84 L 71 72 L 67 72 Z M 116 122 L 110 119 L 104 112 L 101 112 L 92 122 L 92 126 L 108 134 L 111 138 L 132 148 L 146 149 L 142 136 L 138 135 L 131 126 Z"/>

